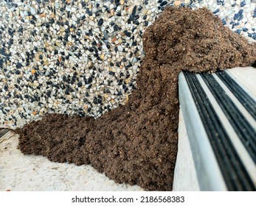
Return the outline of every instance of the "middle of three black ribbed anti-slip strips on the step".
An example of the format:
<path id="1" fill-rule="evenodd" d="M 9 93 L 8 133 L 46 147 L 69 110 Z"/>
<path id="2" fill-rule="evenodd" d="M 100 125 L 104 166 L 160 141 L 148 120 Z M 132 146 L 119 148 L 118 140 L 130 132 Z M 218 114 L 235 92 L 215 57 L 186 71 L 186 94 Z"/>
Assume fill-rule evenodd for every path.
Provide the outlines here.
<path id="1" fill-rule="evenodd" d="M 256 131 L 252 128 L 246 118 L 243 116 L 232 99 L 226 94 L 225 90 L 221 88 L 216 79 L 211 74 L 201 74 L 207 87 L 211 91 L 212 95 L 218 102 L 221 110 L 225 113 L 229 123 L 235 129 L 238 137 L 240 138 L 243 146 L 245 146 L 247 152 L 252 157 L 252 160 L 256 163 Z"/>

